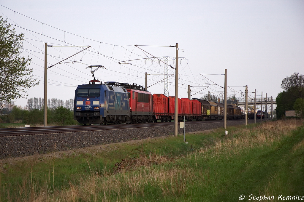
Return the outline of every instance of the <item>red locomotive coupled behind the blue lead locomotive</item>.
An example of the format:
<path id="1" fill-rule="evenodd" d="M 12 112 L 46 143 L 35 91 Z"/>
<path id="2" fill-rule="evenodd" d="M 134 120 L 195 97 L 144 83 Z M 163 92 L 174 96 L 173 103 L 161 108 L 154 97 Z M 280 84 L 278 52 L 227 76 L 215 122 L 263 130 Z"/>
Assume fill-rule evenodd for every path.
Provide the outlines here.
<path id="1" fill-rule="evenodd" d="M 152 94 L 148 91 L 127 89 L 130 93 L 131 123 L 152 122 Z"/>

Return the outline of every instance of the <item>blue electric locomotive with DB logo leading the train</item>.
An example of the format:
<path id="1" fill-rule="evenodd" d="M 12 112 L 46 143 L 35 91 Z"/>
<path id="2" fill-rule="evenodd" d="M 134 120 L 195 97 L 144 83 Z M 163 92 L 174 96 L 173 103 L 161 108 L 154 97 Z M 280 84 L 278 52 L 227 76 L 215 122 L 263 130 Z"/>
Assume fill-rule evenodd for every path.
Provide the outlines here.
<path id="1" fill-rule="evenodd" d="M 124 123 L 130 119 L 130 93 L 123 87 L 96 82 L 100 81 L 93 75 L 89 84 L 79 85 L 75 90 L 74 120 L 84 125 L 102 125 Z"/>

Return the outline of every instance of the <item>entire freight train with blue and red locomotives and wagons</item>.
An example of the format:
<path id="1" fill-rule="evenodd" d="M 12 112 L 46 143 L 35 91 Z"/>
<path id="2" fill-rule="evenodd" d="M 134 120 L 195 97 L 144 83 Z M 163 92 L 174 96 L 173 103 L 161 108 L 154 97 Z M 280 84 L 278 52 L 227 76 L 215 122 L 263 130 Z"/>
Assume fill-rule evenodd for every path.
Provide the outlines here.
<path id="1" fill-rule="evenodd" d="M 92 84 L 91 84 L 92 82 Z M 151 94 L 133 83 L 104 82 L 79 85 L 75 90 L 74 120 L 79 123 L 152 123 L 174 120 L 174 96 Z M 248 109 L 248 112 L 251 110 Z M 223 103 L 178 98 L 178 121 L 222 120 Z M 249 118 L 251 115 L 248 116 Z M 244 108 L 227 104 L 227 119 L 244 119 Z"/>

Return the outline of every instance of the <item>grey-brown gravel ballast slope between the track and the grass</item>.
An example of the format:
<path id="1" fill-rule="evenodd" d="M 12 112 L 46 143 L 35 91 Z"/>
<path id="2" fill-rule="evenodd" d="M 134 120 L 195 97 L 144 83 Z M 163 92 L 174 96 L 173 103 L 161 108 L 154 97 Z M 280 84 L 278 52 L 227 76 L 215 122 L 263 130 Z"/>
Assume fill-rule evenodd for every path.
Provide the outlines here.
<path id="1" fill-rule="evenodd" d="M 248 120 L 253 123 L 254 120 Z M 227 121 L 227 126 L 244 124 L 245 120 Z M 186 133 L 223 127 L 222 122 L 186 124 Z M 133 129 L 99 130 L 71 133 L 51 133 L 42 135 L 12 136 L 0 138 L 0 159 L 24 157 L 39 153 L 79 149 L 88 146 L 127 142 L 173 135 L 174 126 L 157 126 Z M 178 133 L 183 133 L 178 128 Z"/>

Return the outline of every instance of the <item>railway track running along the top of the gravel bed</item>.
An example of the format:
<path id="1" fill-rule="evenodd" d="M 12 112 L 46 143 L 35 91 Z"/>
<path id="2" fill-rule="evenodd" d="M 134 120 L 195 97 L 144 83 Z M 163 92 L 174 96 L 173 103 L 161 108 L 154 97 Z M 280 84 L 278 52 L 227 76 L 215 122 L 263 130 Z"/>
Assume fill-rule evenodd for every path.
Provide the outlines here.
<path id="1" fill-rule="evenodd" d="M 189 121 L 189 124 L 200 123 L 215 123 L 223 120 L 215 121 Z M 235 120 L 227 120 L 235 121 Z M 0 137 L 3 136 L 19 136 L 19 135 L 37 135 L 47 133 L 69 133 L 81 131 L 94 131 L 94 130 L 117 130 L 117 129 L 130 129 L 130 128 L 144 128 L 144 127 L 157 127 L 157 126 L 173 126 L 174 122 L 167 123 L 140 123 L 140 124 L 119 124 L 119 125 L 89 125 L 89 126 L 46 126 L 46 127 L 29 127 L 29 128 L 1 128 Z"/>

